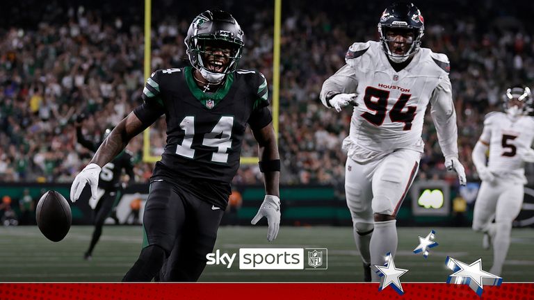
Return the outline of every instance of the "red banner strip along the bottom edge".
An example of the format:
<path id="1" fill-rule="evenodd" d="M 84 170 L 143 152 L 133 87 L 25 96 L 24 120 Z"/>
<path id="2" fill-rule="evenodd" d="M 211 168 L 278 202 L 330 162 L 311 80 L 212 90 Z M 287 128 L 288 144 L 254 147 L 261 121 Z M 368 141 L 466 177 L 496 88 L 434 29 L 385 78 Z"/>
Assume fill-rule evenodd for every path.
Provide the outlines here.
<path id="1" fill-rule="evenodd" d="M 405 294 L 378 283 L 0 283 L 1 300 L 160 299 L 533 299 L 534 283 L 485 286 L 482 297 L 467 285 L 403 283 Z"/>

